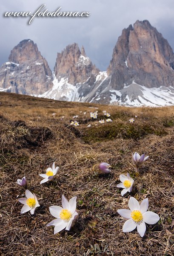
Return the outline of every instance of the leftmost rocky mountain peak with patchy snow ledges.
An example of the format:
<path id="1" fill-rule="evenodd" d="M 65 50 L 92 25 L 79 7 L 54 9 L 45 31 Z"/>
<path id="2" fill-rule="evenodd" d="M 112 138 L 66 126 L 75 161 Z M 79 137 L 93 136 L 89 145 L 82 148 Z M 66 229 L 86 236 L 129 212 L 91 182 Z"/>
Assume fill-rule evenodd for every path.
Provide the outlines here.
<path id="1" fill-rule="evenodd" d="M 37 45 L 30 39 L 21 41 L 0 68 L 0 87 L 13 93 L 38 95 L 52 87 L 52 73 Z"/>

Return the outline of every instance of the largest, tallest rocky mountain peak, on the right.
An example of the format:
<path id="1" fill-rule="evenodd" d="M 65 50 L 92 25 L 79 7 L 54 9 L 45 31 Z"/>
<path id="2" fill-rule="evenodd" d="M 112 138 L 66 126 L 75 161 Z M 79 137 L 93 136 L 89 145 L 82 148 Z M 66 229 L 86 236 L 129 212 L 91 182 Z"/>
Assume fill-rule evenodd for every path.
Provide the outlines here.
<path id="1" fill-rule="evenodd" d="M 174 53 L 168 41 L 148 20 L 123 29 L 107 73 L 111 87 L 120 90 L 133 81 L 145 87 L 174 86 Z"/>

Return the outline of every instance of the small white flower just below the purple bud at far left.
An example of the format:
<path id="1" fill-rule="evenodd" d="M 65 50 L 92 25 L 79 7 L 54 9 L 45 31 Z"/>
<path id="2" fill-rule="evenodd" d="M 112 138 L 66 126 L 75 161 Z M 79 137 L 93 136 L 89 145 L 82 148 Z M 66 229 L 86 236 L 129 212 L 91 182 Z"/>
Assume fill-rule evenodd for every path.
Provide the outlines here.
<path id="1" fill-rule="evenodd" d="M 31 193 L 28 189 L 26 190 L 26 198 L 19 198 L 17 201 L 24 204 L 20 213 L 29 212 L 34 214 L 36 207 L 39 207 L 40 204 L 37 201 L 37 197 L 34 193 Z"/>

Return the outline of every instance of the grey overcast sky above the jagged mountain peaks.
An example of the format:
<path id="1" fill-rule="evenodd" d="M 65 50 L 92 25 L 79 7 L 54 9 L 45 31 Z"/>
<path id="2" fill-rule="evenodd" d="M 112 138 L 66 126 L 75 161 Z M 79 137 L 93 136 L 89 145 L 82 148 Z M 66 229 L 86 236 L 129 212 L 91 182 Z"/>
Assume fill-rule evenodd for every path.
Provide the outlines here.
<path id="1" fill-rule="evenodd" d="M 4 17 L 5 12 L 43 10 L 90 12 L 89 17 Z M 124 28 L 149 20 L 174 49 L 174 0 L 0 0 L 0 65 L 23 39 L 37 44 L 53 70 L 57 52 L 76 42 L 100 70 L 106 70 Z"/>

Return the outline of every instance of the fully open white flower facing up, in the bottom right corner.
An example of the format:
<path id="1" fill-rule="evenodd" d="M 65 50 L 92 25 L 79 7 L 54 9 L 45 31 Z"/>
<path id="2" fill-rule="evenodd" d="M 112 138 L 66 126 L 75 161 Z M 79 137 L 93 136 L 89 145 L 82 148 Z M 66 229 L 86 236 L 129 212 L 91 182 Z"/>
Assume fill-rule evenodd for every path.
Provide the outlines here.
<path id="1" fill-rule="evenodd" d="M 120 209 L 117 212 L 128 220 L 123 225 L 123 232 L 131 232 L 137 227 L 137 231 L 141 237 L 144 236 L 147 224 L 155 224 L 159 221 L 160 217 L 157 213 L 148 210 L 148 198 L 145 198 L 141 204 L 137 199 L 130 197 L 128 201 L 129 209 Z"/>

